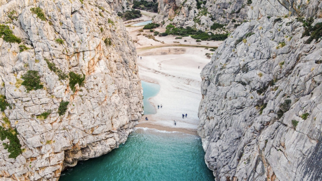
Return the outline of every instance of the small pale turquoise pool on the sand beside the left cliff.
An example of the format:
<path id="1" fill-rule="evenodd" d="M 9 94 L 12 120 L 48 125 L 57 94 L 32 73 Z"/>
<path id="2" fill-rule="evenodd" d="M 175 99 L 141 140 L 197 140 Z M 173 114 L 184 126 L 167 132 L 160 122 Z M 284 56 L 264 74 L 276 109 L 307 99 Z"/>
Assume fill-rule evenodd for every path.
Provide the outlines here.
<path id="1" fill-rule="evenodd" d="M 156 109 L 149 102 L 151 97 L 156 96 L 159 93 L 160 86 L 158 84 L 149 83 L 145 81 L 141 81 L 143 88 L 143 106 L 144 106 L 144 114 L 155 114 Z"/>

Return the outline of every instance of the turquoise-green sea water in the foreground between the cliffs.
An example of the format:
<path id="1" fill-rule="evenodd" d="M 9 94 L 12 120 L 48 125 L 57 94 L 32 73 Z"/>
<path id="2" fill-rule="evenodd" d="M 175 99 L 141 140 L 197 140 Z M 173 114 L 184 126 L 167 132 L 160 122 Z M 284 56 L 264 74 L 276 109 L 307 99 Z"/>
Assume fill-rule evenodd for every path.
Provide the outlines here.
<path id="1" fill-rule="evenodd" d="M 179 132 L 136 129 L 126 144 L 62 172 L 59 181 L 210 181 L 201 139 Z"/>

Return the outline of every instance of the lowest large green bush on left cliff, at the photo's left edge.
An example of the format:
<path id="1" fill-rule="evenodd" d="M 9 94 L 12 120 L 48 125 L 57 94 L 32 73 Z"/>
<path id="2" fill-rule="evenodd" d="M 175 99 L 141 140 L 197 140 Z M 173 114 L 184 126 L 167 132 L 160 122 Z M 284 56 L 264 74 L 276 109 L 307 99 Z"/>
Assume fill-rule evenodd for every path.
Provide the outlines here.
<path id="1" fill-rule="evenodd" d="M 10 153 L 9 158 L 16 158 L 22 153 L 21 144 L 17 135 L 17 129 L 5 129 L 4 127 L 0 126 L 0 139 L 3 141 L 5 138 L 7 138 L 10 141 L 9 144 L 2 144 L 5 149 L 8 149 L 8 152 Z"/>

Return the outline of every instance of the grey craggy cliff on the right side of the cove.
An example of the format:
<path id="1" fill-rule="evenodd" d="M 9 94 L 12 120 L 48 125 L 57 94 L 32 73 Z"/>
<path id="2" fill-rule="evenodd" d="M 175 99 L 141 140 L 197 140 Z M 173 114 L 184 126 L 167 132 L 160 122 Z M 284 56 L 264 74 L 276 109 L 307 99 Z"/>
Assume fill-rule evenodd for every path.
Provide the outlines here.
<path id="1" fill-rule="evenodd" d="M 269 11 L 263 2 L 249 18 Z M 321 1 L 306 7 L 300 14 L 321 17 Z M 204 67 L 198 134 L 216 180 L 322 180 L 322 19 L 308 22 L 243 23 Z"/>

